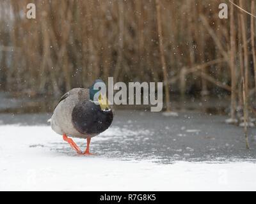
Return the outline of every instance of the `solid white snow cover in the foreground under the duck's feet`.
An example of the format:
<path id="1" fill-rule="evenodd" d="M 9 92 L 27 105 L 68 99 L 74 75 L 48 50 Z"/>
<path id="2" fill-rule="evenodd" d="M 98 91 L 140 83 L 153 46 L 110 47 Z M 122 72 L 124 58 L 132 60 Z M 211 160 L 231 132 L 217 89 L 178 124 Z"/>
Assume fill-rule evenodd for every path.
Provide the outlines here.
<path id="1" fill-rule="evenodd" d="M 92 145 L 115 131 L 93 138 Z M 0 139 L 1 191 L 256 191 L 255 163 L 77 156 L 49 126 L 0 126 Z"/>

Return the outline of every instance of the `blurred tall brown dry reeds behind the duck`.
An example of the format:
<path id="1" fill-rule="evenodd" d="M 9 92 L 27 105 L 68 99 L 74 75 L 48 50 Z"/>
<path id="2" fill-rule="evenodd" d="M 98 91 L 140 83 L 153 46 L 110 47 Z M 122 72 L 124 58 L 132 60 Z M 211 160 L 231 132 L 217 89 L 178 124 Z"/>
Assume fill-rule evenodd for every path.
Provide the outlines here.
<path id="1" fill-rule="evenodd" d="M 26 18 L 28 3 L 35 19 Z M 255 13 L 254 1 L 234 3 Z M 164 81 L 168 98 L 227 96 L 232 118 L 246 104 L 253 113 L 255 20 L 229 1 L 2 0 L 0 89 L 58 98 L 96 78 Z"/>

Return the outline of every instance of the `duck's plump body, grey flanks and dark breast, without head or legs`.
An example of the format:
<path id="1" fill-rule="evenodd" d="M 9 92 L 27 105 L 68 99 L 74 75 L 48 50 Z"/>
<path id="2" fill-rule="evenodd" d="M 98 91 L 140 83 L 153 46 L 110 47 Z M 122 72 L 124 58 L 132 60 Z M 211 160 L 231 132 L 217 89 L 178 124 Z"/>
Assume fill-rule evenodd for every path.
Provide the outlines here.
<path id="1" fill-rule="evenodd" d="M 90 101 L 89 92 L 89 89 L 76 88 L 61 97 L 51 117 L 51 128 L 56 133 L 77 138 L 91 138 L 110 126 L 113 120 L 112 110 L 111 114 L 101 111 L 99 105 Z M 97 118 L 95 118 L 96 113 L 98 113 Z M 99 114 L 108 114 L 108 124 L 104 122 L 106 125 L 103 129 L 99 127 L 102 123 Z M 93 127 L 94 131 L 90 131 Z"/>

